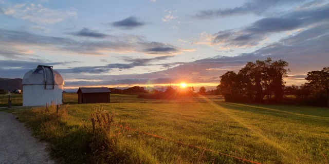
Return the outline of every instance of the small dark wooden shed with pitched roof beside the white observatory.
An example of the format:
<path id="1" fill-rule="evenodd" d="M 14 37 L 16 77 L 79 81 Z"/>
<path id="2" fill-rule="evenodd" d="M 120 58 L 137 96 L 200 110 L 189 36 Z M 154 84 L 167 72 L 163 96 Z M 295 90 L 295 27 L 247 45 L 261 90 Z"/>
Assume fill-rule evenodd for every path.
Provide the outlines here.
<path id="1" fill-rule="evenodd" d="M 106 87 L 80 87 L 78 94 L 79 104 L 109 103 L 109 91 Z"/>

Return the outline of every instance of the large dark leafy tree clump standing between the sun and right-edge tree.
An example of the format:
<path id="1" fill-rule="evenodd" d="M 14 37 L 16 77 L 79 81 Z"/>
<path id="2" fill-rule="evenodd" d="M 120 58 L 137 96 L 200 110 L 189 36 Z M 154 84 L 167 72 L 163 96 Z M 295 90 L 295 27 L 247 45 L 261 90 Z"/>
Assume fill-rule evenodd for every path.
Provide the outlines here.
<path id="1" fill-rule="evenodd" d="M 221 84 L 217 90 L 229 101 L 256 101 L 262 102 L 264 96 L 271 101 L 272 94 L 275 100 L 283 100 L 284 81 L 289 69 L 288 63 L 283 60 L 266 60 L 248 62 L 239 73 L 228 71 L 221 76 Z"/>

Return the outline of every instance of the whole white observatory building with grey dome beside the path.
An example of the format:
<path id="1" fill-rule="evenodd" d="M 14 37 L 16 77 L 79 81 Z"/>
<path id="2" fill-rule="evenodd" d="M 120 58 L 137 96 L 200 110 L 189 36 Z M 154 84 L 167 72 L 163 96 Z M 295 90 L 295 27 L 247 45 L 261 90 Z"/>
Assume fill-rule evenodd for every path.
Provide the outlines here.
<path id="1" fill-rule="evenodd" d="M 25 73 L 23 85 L 23 106 L 45 106 L 53 101 L 61 105 L 64 79 L 52 66 L 39 65 Z"/>

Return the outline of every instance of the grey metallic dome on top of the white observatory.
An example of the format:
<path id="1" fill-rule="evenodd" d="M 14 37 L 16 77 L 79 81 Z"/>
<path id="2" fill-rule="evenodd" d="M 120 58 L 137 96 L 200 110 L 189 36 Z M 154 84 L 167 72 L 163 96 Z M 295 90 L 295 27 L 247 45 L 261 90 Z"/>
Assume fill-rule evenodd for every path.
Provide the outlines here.
<path id="1" fill-rule="evenodd" d="M 52 69 L 52 66 L 39 65 L 25 73 L 22 85 L 64 85 L 64 79 L 60 73 Z"/>

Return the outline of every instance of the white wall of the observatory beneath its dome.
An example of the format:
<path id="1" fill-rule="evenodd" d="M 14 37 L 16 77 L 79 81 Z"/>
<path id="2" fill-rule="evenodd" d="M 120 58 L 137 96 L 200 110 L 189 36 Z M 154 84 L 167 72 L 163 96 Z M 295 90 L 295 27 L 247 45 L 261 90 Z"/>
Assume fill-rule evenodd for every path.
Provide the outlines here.
<path id="1" fill-rule="evenodd" d="M 54 89 L 45 89 L 44 85 L 23 85 L 23 106 L 45 106 L 53 101 L 54 105 L 62 104 L 63 85 Z"/>

